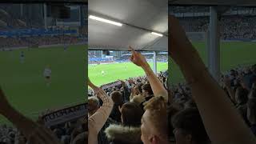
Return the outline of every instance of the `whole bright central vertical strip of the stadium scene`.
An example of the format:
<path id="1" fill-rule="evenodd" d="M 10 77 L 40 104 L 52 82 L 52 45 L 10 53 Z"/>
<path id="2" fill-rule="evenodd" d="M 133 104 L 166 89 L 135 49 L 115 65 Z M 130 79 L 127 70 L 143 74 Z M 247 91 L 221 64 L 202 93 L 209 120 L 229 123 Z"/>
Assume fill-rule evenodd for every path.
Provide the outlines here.
<path id="1" fill-rule="evenodd" d="M 143 103 L 166 120 L 168 3 L 90 0 L 88 13 L 88 143 L 150 143 Z"/>

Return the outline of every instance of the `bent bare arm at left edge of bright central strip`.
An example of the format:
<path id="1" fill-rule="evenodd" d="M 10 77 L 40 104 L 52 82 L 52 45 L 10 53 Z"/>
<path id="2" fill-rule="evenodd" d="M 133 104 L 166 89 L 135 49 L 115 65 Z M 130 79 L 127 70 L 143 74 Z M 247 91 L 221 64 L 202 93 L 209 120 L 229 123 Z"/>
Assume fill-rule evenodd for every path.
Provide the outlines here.
<path id="1" fill-rule="evenodd" d="M 105 93 L 104 90 L 95 86 L 90 79 L 88 78 L 88 85 L 94 90 L 97 97 L 100 98 L 103 102 L 102 106 L 88 119 L 89 121 L 89 130 L 94 130 L 94 133 L 97 133 L 104 126 L 107 118 L 110 116 L 111 110 L 113 108 L 114 102 L 112 99 Z M 92 127 L 90 127 L 92 126 Z M 89 134 L 90 136 L 90 134 Z M 90 137 L 89 137 L 90 138 Z"/>

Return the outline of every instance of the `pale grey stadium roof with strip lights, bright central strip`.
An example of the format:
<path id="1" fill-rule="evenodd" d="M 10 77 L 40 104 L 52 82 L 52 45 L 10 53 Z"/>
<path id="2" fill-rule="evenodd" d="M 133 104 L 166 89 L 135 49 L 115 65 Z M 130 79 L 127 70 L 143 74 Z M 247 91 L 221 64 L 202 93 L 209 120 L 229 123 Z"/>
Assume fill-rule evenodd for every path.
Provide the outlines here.
<path id="1" fill-rule="evenodd" d="M 89 3 L 89 15 L 123 24 L 114 26 L 89 17 L 90 50 L 127 50 L 128 46 L 137 50 L 167 50 L 167 0 L 90 0 Z"/>

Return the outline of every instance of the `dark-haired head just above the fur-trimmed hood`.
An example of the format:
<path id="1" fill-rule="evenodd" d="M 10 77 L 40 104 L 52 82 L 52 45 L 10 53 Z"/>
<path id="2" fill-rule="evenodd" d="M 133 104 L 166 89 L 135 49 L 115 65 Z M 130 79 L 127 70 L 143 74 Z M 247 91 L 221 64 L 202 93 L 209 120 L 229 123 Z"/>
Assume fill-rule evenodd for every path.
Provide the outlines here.
<path id="1" fill-rule="evenodd" d="M 140 126 L 143 110 L 134 102 L 126 102 L 122 105 L 122 124 L 124 126 Z"/>

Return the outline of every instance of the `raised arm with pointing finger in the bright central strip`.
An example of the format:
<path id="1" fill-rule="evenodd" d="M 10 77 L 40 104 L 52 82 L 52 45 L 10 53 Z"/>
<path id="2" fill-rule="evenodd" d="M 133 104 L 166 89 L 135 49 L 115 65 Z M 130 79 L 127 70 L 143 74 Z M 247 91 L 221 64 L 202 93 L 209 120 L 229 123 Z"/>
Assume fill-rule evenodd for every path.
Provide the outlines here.
<path id="1" fill-rule="evenodd" d="M 130 47 L 130 50 L 132 51 L 132 55 L 130 57 L 130 61 L 134 62 L 135 65 L 141 66 L 144 70 L 149 82 L 150 86 L 153 90 L 154 96 L 162 96 L 168 100 L 168 93 L 165 87 L 162 85 L 158 77 L 154 74 L 153 70 L 151 70 L 150 65 L 146 62 L 146 58 L 138 53 L 137 51 L 134 51 L 133 48 Z"/>

